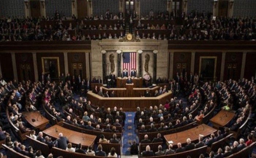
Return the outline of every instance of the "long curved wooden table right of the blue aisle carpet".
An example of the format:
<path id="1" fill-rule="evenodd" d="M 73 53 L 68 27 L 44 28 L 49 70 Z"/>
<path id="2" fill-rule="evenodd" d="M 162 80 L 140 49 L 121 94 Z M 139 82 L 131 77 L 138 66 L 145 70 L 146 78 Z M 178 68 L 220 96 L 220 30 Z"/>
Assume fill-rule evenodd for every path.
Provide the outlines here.
<path id="1" fill-rule="evenodd" d="M 164 135 L 163 137 L 165 138 L 167 145 L 169 145 L 168 141 L 173 141 L 173 145 L 177 146 L 177 143 L 181 143 L 181 145 L 187 144 L 187 138 L 190 138 L 191 142 L 196 142 L 198 141 L 199 134 L 204 135 L 204 137 L 207 137 L 216 131 L 216 129 L 205 124 L 202 124 L 192 129 Z"/>

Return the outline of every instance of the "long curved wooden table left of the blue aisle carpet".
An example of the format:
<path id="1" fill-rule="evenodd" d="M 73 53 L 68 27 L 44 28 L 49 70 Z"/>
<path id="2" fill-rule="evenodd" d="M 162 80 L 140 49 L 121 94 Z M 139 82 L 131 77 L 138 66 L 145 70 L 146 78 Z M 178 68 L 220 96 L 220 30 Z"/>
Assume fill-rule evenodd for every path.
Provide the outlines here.
<path id="1" fill-rule="evenodd" d="M 57 129 L 57 132 L 55 131 L 55 129 Z M 59 138 L 59 133 L 63 133 L 63 136 L 67 137 L 69 142 L 75 145 L 81 143 L 83 147 L 89 147 L 90 145 L 93 145 L 96 139 L 95 135 L 72 131 L 69 129 L 65 129 L 64 127 L 61 127 L 59 125 L 54 125 L 44 130 L 43 133 L 56 139 Z"/>

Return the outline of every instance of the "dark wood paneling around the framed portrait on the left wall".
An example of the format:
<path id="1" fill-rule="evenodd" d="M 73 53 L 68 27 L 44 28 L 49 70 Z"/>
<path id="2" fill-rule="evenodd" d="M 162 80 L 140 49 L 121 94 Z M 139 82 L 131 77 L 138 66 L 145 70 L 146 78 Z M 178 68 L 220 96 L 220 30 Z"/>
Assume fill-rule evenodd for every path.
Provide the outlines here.
<path id="1" fill-rule="evenodd" d="M 62 52 L 60 53 L 37 53 L 37 67 L 38 67 L 38 77 L 40 78 L 42 74 L 42 57 L 59 57 L 60 62 L 60 74 L 64 73 L 64 55 Z"/>

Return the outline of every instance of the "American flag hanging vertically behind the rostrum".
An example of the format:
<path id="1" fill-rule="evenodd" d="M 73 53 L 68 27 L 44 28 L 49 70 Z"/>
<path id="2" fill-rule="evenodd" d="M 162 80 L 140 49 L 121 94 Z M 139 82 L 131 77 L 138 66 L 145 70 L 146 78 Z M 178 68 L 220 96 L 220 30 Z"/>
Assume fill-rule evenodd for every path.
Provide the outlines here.
<path id="1" fill-rule="evenodd" d="M 136 52 L 124 52 L 123 53 L 123 69 L 128 70 L 128 74 L 133 68 L 136 69 Z"/>

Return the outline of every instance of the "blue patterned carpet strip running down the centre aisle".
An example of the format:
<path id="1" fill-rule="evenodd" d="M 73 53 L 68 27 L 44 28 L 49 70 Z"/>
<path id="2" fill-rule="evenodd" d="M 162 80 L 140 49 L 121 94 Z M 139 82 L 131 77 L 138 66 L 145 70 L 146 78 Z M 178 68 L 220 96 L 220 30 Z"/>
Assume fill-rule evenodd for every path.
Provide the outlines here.
<path id="1" fill-rule="evenodd" d="M 137 135 L 135 133 L 136 126 L 134 125 L 135 112 L 125 112 L 126 120 L 124 124 L 123 132 L 123 155 L 130 155 L 130 144 L 133 140 L 137 140 Z"/>

